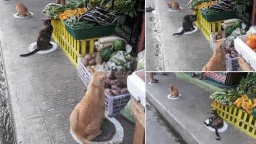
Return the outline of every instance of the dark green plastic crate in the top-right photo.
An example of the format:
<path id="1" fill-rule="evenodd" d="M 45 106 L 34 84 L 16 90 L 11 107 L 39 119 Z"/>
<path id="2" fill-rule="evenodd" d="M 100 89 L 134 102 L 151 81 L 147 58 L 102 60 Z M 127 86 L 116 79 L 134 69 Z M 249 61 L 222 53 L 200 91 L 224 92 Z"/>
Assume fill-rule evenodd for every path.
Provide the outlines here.
<path id="1" fill-rule="evenodd" d="M 205 20 L 207 22 L 217 22 L 217 21 L 221 21 L 221 20 L 235 18 L 236 10 L 222 11 L 220 13 L 212 13 L 212 14 L 205 14 L 205 13 L 201 13 L 201 14 L 203 15 L 203 18 L 205 18 Z"/>

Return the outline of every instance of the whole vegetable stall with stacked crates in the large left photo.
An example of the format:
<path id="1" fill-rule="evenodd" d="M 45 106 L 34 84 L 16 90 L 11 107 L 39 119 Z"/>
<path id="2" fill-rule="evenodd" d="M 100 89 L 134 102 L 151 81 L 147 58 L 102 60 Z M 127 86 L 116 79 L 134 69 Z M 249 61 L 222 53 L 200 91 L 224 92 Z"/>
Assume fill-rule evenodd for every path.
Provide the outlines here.
<path id="1" fill-rule="evenodd" d="M 127 77 L 145 67 L 144 57 L 137 57 L 144 56 L 138 48 L 144 41 L 143 9 L 143 0 L 69 0 L 64 5 L 49 3 L 42 10 L 52 20 L 53 39 L 85 87 L 91 79 L 86 67 L 106 73 L 106 114 L 121 113 L 132 122 L 135 116 L 121 111 L 131 111 Z"/>

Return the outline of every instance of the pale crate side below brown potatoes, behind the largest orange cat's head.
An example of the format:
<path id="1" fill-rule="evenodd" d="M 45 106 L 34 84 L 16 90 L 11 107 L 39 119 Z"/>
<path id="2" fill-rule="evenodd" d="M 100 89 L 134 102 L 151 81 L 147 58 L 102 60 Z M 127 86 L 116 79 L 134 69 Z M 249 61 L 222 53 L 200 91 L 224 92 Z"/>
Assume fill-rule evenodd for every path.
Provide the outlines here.
<path id="1" fill-rule="evenodd" d="M 84 85 L 88 87 L 91 81 L 91 74 L 86 69 L 86 67 L 84 67 L 84 65 L 82 64 L 81 58 L 78 59 L 77 75 L 82 79 L 82 81 L 84 82 Z"/>

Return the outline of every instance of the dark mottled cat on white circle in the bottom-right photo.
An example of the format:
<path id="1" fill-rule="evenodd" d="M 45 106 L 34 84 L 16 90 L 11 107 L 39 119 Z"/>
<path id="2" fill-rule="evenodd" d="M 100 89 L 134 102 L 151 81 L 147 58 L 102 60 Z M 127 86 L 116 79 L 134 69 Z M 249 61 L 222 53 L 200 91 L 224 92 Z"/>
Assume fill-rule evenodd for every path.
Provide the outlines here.
<path id="1" fill-rule="evenodd" d="M 222 128 L 224 125 L 223 119 L 220 118 L 219 114 L 216 110 L 212 110 L 212 116 L 209 118 L 209 123 L 203 122 L 207 127 L 212 127 L 215 129 L 216 140 L 220 140 L 220 135 L 218 133 L 218 129 Z"/>

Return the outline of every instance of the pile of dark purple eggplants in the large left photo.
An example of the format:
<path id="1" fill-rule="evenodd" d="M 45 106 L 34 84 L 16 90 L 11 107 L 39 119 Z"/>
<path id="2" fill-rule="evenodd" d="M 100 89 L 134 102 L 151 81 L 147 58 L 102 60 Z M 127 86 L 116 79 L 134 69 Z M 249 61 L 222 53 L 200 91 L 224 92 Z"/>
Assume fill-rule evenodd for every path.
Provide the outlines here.
<path id="1" fill-rule="evenodd" d="M 117 22 L 117 15 L 110 13 L 106 9 L 101 7 L 96 7 L 95 9 L 90 9 L 83 14 L 83 19 L 88 22 L 94 22 L 100 25 L 115 24 Z"/>

